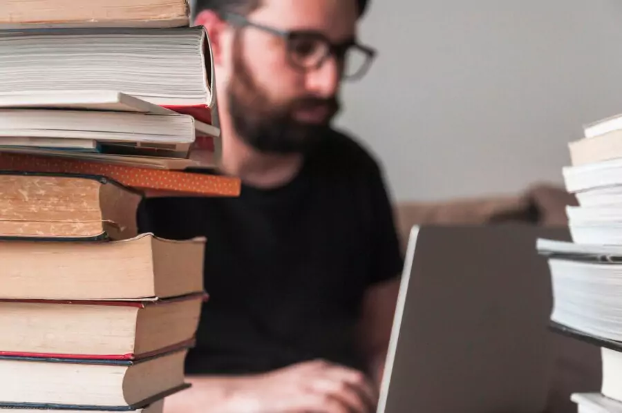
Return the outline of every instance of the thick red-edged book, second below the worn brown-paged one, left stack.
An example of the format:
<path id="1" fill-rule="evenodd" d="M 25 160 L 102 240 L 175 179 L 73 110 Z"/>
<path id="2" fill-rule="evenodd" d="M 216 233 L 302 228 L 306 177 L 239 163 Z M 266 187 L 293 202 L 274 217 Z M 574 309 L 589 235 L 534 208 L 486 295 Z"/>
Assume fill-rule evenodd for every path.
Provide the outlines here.
<path id="1" fill-rule="evenodd" d="M 192 347 L 205 298 L 0 300 L 0 356 L 142 360 Z"/>

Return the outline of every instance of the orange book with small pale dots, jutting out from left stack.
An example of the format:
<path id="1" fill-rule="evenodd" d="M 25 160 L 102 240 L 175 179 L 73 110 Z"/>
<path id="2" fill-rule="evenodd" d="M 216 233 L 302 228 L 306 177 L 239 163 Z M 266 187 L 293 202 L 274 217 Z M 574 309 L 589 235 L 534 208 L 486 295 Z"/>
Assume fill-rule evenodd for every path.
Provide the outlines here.
<path id="1" fill-rule="evenodd" d="M 188 173 L 162 169 L 135 168 L 104 162 L 89 162 L 62 157 L 21 153 L 0 153 L 0 170 L 37 173 L 79 173 L 102 175 L 153 196 L 238 196 L 241 181 L 237 177 Z"/>

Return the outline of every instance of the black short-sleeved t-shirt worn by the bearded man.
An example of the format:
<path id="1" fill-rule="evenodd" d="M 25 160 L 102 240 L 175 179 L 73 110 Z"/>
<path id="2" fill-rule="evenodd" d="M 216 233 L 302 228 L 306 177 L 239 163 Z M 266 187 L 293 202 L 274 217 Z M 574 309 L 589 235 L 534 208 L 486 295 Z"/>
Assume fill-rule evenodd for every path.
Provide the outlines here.
<path id="1" fill-rule="evenodd" d="M 238 198 L 153 198 L 142 232 L 207 237 L 205 289 L 189 374 L 265 372 L 324 358 L 365 370 L 355 327 L 364 292 L 402 270 L 379 166 L 331 133 L 298 175 Z"/>

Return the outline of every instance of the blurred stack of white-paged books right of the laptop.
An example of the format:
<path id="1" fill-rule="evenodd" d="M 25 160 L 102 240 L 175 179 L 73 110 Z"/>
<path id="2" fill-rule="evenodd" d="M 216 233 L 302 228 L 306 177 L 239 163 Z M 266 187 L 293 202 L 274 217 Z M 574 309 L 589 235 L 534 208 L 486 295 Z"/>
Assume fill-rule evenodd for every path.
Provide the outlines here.
<path id="1" fill-rule="evenodd" d="M 622 412 L 622 115 L 587 124 L 569 144 L 571 242 L 538 240 L 552 277 L 555 332 L 601 349 L 600 393 L 572 394 L 578 411 Z"/>

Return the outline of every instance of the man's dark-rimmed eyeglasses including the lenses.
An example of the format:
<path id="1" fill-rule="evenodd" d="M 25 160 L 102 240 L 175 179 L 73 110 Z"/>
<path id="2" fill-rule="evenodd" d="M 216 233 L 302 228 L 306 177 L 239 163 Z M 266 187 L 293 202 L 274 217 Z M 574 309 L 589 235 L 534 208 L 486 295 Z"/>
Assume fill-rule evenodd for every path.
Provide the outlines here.
<path id="1" fill-rule="evenodd" d="M 238 27 L 257 28 L 282 37 L 285 39 L 290 64 L 303 71 L 320 68 L 333 55 L 340 65 L 341 77 L 358 80 L 367 73 L 376 56 L 376 50 L 358 44 L 357 41 L 333 44 L 325 35 L 313 30 L 279 30 L 230 12 L 223 13 L 220 18 Z"/>

